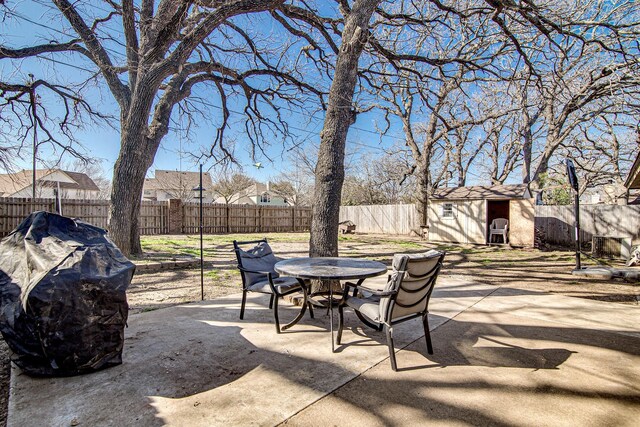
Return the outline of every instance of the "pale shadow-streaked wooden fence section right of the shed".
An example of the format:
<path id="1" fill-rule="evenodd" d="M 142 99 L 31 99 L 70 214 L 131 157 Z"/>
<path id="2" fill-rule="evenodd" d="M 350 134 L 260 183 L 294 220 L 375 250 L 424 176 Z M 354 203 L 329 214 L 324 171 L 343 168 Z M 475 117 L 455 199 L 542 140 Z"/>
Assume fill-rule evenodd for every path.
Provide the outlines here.
<path id="1" fill-rule="evenodd" d="M 573 206 L 536 206 L 535 227 L 542 241 L 571 245 L 574 242 Z M 631 237 L 640 243 L 640 206 L 583 205 L 580 207 L 580 238 L 593 236 Z"/>

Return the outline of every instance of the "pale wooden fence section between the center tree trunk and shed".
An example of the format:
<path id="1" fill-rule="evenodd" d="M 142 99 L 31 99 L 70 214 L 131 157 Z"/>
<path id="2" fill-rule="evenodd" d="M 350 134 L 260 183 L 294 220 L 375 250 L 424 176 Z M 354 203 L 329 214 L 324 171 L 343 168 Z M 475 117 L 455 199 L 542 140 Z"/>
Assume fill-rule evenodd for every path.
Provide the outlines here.
<path id="1" fill-rule="evenodd" d="M 360 233 L 409 234 L 420 226 L 415 205 L 341 206 L 340 222 L 347 220 Z"/>

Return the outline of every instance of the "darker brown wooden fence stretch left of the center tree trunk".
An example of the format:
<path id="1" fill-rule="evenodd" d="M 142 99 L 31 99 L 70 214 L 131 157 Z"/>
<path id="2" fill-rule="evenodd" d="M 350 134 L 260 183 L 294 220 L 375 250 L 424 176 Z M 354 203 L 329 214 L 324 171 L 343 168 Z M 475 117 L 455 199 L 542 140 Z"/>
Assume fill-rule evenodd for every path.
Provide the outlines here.
<path id="1" fill-rule="evenodd" d="M 98 227 L 107 228 L 107 200 L 62 200 L 62 214 L 79 218 Z M 15 229 L 34 211 L 55 212 L 55 200 L 30 198 L 0 198 L 0 237 Z M 180 200 L 143 201 L 140 206 L 140 234 L 195 234 L 199 232 L 200 205 Z M 203 205 L 205 233 L 268 233 L 307 231 L 311 227 L 311 208 L 224 205 Z"/>

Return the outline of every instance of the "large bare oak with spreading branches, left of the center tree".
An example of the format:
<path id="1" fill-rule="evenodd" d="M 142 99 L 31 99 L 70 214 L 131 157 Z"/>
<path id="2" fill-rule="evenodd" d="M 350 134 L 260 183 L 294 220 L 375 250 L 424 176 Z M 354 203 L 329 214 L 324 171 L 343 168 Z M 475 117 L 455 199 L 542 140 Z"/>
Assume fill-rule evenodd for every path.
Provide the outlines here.
<path id="1" fill-rule="evenodd" d="M 248 30 L 242 28 L 242 24 L 250 26 L 250 21 L 234 20 L 257 13 L 270 19 L 270 14 L 282 8 L 283 3 L 282 0 L 162 0 L 157 4 L 153 0 L 108 1 L 101 6 L 111 10 L 96 16 L 91 6 L 53 0 L 66 23 L 61 33 L 73 35 L 27 48 L 0 48 L 0 59 L 11 60 L 76 53 L 94 65 L 117 102 L 120 149 L 113 170 L 109 231 L 125 254 L 141 252 L 138 217 L 144 177 L 169 132 L 175 107 L 181 103 L 188 107 L 185 103 L 196 86 L 206 83 L 219 100 L 222 119 L 214 145 L 223 152 L 224 132 L 231 114 L 230 96 L 245 98 L 247 134 L 259 145 L 265 127 L 286 128 L 275 105 L 277 99 L 295 103 L 296 94 L 301 92 L 321 95 L 314 86 L 297 80 L 286 66 L 278 66 L 277 55 L 256 48 Z M 290 10 L 294 13 L 298 8 L 292 6 Z M 122 30 L 123 40 L 117 40 L 116 44 L 124 47 L 124 61 L 116 61 L 118 52 L 109 47 L 113 36 L 107 23 L 119 25 Z M 235 44 L 230 40 L 235 40 Z M 269 80 L 266 84 L 265 79 Z M 7 104 L 15 104 L 16 99 L 33 94 L 39 86 L 56 91 L 67 104 L 85 106 L 93 112 L 81 93 L 64 92 L 65 88 L 46 81 L 3 83 L 0 89 Z M 274 113 L 272 116 L 265 112 L 269 109 Z"/>

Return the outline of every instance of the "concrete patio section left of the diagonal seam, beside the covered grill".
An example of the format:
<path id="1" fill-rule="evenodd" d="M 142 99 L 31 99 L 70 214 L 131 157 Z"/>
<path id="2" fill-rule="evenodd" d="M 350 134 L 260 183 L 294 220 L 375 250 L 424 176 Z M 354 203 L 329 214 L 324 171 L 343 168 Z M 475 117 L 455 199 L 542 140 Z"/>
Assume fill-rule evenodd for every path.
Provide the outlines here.
<path id="1" fill-rule="evenodd" d="M 473 295 L 464 303 L 434 301 L 432 328 L 496 290 L 448 285 L 469 286 Z M 268 297 L 250 296 L 245 320 L 238 318 L 240 295 L 133 315 L 124 363 L 90 375 L 38 379 L 15 368 L 8 424 L 273 425 L 388 356 L 379 344 L 384 335 L 372 331 L 360 333 L 360 345 L 332 353 L 329 319 L 318 310 L 315 319 L 276 334 L 267 305 Z M 349 314 L 346 324 L 359 322 Z M 398 329 L 397 345 L 421 335 L 416 320 Z"/>

